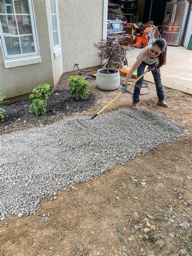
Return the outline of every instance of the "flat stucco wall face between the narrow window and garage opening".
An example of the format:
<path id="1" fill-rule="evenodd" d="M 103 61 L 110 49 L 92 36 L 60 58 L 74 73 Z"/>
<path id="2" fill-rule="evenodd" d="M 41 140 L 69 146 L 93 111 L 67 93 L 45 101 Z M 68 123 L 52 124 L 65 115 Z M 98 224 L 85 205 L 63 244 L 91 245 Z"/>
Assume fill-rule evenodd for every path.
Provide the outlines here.
<path id="1" fill-rule="evenodd" d="M 58 1 L 63 73 L 79 68 L 100 65 L 93 43 L 102 39 L 103 1 Z"/>

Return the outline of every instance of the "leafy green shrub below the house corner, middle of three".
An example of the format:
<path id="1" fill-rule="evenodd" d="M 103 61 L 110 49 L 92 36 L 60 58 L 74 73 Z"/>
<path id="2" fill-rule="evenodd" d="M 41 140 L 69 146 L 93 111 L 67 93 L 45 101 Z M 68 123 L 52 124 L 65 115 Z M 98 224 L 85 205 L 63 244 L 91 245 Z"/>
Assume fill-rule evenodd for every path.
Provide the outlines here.
<path id="1" fill-rule="evenodd" d="M 49 110 L 49 98 L 51 97 L 51 85 L 45 83 L 44 85 L 36 86 L 32 94 L 30 94 L 30 112 L 37 116 L 38 113 L 46 115 Z"/>

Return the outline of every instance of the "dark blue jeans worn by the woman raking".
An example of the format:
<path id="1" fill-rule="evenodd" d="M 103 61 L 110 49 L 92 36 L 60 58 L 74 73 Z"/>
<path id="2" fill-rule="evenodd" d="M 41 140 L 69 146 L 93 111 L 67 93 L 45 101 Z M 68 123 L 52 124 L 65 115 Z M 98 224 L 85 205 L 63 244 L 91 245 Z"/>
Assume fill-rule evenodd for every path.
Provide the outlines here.
<path id="1" fill-rule="evenodd" d="M 141 62 L 141 64 L 139 65 L 139 67 L 137 68 L 137 77 L 140 77 L 140 75 L 142 75 L 144 73 L 145 67 L 146 66 L 150 66 L 147 63 L 145 63 L 144 61 Z M 161 73 L 160 70 L 159 71 L 151 71 L 154 77 L 154 82 L 156 85 L 156 91 L 157 91 L 157 96 L 159 100 L 164 100 L 164 91 L 163 91 L 163 86 L 162 86 L 162 81 L 161 81 Z M 141 91 L 141 87 L 143 85 L 143 79 L 144 77 L 141 77 L 141 79 L 139 79 L 139 81 L 136 82 L 135 87 L 134 87 L 134 92 L 133 92 L 133 101 L 134 102 L 139 102 L 139 95 L 140 95 L 140 91 Z"/>

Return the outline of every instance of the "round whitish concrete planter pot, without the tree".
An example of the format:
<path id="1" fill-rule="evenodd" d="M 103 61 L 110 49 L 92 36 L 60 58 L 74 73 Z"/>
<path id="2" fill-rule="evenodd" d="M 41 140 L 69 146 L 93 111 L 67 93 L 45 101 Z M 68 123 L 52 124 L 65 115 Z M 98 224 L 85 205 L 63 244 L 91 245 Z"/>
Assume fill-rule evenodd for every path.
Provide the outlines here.
<path id="1" fill-rule="evenodd" d="M 97 71 L 96 85 L 100 90 L 112 91 L 119 87 L 120 84 L 120 73 L 116 68 L 109 68 L 113 71 L 112 74 L 102 73 L 107 71 L 107 68 L 101 68 Z"/>

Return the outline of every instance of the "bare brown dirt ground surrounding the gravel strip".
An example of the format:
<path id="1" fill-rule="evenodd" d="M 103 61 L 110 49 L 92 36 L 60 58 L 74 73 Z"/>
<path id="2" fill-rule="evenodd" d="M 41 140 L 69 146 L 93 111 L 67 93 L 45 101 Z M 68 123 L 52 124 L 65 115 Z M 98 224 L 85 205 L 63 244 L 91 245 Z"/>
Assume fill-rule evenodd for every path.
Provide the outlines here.
<path id="1" fill-rule="evenodd" d="M 94 80 L 90 83 L 96 102 L 73 115 L 92 115 L 120 92 L 100 91 Z M 2 256 L 192 255 L 192 97 L 165 87 L 170 108 L 162 108 L 156 104 L 154 85 L 150 87 L 152 92 L 141 96 L 141 109 L 166 115 L 185 136 L 77 184 L 77 191 L 60 190 L 56 200 L 42 201 L 36 215 L 8 218 L 7 226 L 0 222 Z M 130 106 L 131 95 L 126 94 L 107 111 Z M 51 122 L 64 117 L 66 113 Z M 36 125 L 24 124 L 15 130 Z M 43 217 L 48 221 L 39 222 Z M 145 234 L 143 229 L 150 225 L 152 230 Z"/>

